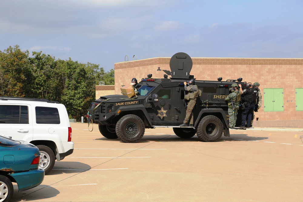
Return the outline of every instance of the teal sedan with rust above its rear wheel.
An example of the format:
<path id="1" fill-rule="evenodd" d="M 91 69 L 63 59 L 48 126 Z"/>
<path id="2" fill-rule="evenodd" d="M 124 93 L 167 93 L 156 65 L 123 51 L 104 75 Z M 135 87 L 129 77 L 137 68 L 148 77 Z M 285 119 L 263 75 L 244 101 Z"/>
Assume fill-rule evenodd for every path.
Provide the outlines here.
<path id="1" fill-rule="evenodd" d="M 28 142 L 12 140 L 0 135 L 0 201 L 9 201 L 13 195 L 12 182 L 18 191 L 38 186 L 44 179 L 39 168 L 39 149 Z"/>

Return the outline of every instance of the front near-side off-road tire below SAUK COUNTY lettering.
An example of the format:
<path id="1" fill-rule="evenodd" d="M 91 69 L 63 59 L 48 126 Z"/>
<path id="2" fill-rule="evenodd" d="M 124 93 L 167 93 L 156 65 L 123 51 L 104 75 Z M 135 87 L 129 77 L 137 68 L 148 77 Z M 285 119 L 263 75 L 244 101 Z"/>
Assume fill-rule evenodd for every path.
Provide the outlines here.
<path id="1" fill-rule="evenodd" d="M 116 133 L 120 140 L 126 143 L 136 143 L 141 140 L 145 132 L 142 119 L 136 115 L 123 116 L 116 124 Z"/>

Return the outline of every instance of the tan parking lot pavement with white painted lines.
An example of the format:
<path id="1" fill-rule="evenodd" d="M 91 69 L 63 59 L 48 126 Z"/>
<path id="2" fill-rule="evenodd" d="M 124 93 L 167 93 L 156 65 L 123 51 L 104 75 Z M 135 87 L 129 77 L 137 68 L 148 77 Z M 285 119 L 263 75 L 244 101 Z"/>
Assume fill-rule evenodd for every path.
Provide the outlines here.
<path id="1" fill-rule="evenodd" d="M 218 142 L 146 129 L 138 143 L 72 123 L 74 153 L 14 201 L 301 201 L 302 131 L 231 130 Z M 91 129 L 90 125 L 90 129 Z M 302 136 L 303 137 L 303 136 Z M 14 185 L 16 188 L 17 185 Z M 15 189 L 16 190 L 16 189 Z"/>

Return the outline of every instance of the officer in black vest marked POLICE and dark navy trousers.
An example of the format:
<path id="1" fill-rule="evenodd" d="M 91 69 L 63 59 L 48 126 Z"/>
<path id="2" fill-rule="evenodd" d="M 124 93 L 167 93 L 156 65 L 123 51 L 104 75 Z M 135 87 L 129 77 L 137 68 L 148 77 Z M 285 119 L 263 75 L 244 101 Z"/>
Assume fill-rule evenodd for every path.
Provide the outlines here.
<path id="1" fill-rule="evenodd" d="M 253 88 L 252 83 L 246 85 L 246 89 L 242 90 L 241 84 L 239 84 L 240 91 L 242 93 L 242 120 L 240 128 L 249 128 L 251 124 L 251 113 L 254 111 L 254 107 L 257 100 L 257 90 Z"/>

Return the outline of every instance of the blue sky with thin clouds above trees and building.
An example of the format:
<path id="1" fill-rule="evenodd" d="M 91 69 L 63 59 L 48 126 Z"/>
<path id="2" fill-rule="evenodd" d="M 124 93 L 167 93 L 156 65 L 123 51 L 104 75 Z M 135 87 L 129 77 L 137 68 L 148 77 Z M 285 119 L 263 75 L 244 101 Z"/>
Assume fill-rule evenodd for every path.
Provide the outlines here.
<path id="1" fill-rule="evenodd" d="M 0 50 L 22 50 L 105 71 L 114 63 L 191 57 L 303 58 L 302 0 L 10 0 Z"/>

